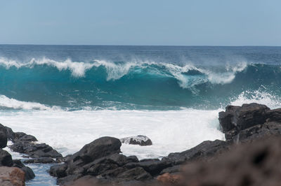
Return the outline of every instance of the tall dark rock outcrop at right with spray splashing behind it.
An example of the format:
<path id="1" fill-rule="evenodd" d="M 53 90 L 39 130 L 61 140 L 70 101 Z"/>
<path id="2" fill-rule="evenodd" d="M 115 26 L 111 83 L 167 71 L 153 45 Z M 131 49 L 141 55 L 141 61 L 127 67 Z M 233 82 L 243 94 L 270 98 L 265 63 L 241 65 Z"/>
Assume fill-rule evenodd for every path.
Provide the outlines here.
<path id="1" fill-rule="evenodd" d="M 227 106 L 218 114 L 221 129 L 230 143 L 281 134 L 281 108 L 270 110 L 258 103 Z"/>

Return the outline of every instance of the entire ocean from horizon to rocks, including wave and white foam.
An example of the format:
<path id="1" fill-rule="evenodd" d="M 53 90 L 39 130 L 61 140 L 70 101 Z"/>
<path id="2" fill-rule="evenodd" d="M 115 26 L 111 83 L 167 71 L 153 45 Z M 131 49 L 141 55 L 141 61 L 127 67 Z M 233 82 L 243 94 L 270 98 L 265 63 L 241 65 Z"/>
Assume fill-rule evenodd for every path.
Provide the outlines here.
<path id="1" fill-rule="evenodd" d="M 122 145 L 140 159 L 223 140 L 218 112 L 281 107 L 280 87 L 281 47 L 0 45 L 0 123 L 63 155 L 101 136 L 148 136 Z"/>

